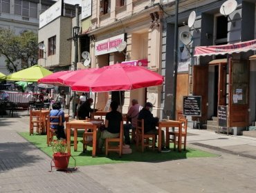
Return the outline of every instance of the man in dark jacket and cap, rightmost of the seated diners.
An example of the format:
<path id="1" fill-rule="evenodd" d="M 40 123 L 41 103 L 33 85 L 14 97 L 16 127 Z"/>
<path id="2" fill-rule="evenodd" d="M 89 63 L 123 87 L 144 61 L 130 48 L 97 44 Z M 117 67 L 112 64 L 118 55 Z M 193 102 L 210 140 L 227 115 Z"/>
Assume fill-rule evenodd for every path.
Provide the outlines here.
<path id="1" fill-rule="evenodd" d="M 144 119 L 144 133 L 145 134 L 158 134 L 158 130 L 156 130 L 156 125 L 159 121 L 158 117 L 154 117 L 152 114 L 153 105 L 152 103 L 145 103 L 145 107 L 140 110 L 138 114 L 138 120 Z M 170 152 L 169 149 L 165 148 L 165 132 L 162 132 L 162 152 Z M 155 141 L 156 142 L 156 141 Z"/>

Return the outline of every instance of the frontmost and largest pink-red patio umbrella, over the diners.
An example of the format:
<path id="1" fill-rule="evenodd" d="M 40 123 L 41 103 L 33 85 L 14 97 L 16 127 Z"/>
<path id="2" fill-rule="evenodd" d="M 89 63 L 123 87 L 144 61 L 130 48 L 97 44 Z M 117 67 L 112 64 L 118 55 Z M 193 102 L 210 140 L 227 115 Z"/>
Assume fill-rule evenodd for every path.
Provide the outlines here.
<path id="1" fill-rule="evenodd" d="M 163 77 L 144 67 L 117 63 L 93 70 L 71 88 L 75 91 L 108 92 L 161 85 Z"/>

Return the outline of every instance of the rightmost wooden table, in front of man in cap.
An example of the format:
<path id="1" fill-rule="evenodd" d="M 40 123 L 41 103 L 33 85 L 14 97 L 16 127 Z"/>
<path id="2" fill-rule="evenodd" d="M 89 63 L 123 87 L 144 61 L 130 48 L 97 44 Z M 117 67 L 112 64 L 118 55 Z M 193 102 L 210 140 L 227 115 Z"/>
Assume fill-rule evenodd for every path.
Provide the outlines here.
<path id="1" fill-rule="evenodd" d="M 162 128 L 169 130 L 169 128 L 178 127 L 179 128 L 178 150 L 179 152 L 181 152 L 182 123 L 180 121 L 172 121 L 172 120 L 159 121 L 157 126 L 158 126 L 158 151 L 161 152 L 161 147 L 162 147 L 162 132 L 161 132 Z M 170 144 L 169 141 L 168 141 L 168 144 Z"/>

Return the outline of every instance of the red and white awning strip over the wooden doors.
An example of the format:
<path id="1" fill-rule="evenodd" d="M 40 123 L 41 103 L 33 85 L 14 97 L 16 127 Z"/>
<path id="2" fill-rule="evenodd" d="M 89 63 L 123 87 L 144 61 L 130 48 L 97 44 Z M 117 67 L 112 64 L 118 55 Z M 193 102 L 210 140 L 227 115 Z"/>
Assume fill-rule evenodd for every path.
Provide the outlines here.
<path id="1" fill-rule="evenodd" d="M 194 50 L 194 57 L 248 52 L 249 50 L 256 50 L 256 39 L 226 45 L 197 46 Z"/>

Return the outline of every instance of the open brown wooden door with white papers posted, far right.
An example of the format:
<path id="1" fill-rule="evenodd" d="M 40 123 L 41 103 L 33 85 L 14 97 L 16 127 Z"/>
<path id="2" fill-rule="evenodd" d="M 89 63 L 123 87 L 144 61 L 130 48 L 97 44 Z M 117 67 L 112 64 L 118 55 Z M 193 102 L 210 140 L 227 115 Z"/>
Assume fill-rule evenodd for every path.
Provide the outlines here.
<path id="1" fill-rule="evenodd" d="M 229 126 L 248 126 L 249 73 L 247 61 L 230 60 Z"/>

